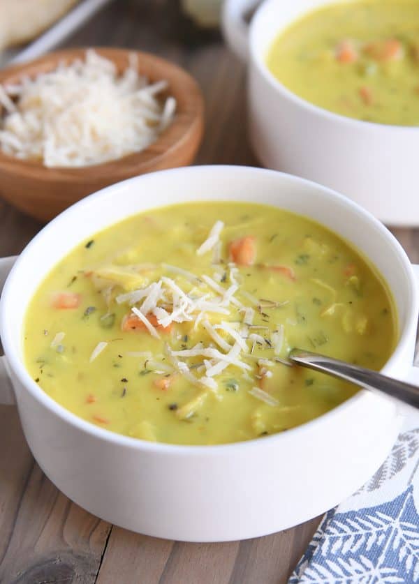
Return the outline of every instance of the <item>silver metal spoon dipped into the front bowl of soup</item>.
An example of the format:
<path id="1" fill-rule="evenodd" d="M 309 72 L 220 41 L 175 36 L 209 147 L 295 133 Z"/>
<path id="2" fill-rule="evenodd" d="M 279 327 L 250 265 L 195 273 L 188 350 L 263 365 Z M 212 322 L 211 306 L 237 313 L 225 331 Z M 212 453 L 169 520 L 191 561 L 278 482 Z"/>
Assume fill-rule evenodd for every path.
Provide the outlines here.
<path id="1" fill-rule="evenodd" d="M 382 391 L 384 394 L 392 396 L 392 398 L 409 403 L 414 407 L 419 407 L 419 387 L 410 383 L 392 379 L 371 369 L 365 369 L 358 367 L 358 365 L 351 365 L 345 361 L 339 361 L 338 359 L 332 359 L 332 357 L 325 357 L 325 355 L 301 349 L 293 349 L 289 354 L 289 359 L 293 364 L 327 373 L 365 389 Z"/>

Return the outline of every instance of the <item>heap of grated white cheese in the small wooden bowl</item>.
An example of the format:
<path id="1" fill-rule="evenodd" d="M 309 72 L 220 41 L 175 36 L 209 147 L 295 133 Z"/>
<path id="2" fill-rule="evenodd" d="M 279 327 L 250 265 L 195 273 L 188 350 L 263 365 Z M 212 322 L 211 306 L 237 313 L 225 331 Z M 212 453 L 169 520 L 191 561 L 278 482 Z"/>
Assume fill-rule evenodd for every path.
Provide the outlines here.
<path id="1" fill-rule="evenodd" d="M 93 50 L 51 73 L 0 85 L 0 147 L 5 154 L 42 160 L 47 167 L 81 167 L 139 152 L 155 142 L 175 114 L 168 88 L 138 75 L 135 55 L 118 75 Z"/>

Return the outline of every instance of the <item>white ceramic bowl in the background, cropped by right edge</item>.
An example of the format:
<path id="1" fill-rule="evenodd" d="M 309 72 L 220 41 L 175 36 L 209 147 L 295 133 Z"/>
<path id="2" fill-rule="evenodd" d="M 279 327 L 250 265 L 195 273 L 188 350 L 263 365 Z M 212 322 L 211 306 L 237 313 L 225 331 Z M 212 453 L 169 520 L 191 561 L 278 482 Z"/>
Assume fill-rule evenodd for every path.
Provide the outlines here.
<path id="1" fill-rule="evenodd" d="M 265 63 L 281 30 L 332 0 L 266 0 L 248 29 L 255 0 L 226 0 L 228 43 L 249 60 L 249 132 L 266 167 L 297 174 L 348 195 L 389 225 L 419 225 L 419 128 L 343 117 L 286 89 Z"/>

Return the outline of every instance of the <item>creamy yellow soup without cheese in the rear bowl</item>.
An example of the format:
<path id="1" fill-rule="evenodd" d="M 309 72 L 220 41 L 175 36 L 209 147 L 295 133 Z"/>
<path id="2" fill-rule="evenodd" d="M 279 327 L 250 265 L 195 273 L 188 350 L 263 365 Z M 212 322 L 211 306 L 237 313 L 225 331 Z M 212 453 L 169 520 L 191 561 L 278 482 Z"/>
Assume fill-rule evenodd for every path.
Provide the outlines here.
<path id="1" fill-rule="evenodd" d="M 267 66 L 297 96 L 377 123 L 419 125 L 419 0 L 354 0 L 282 31 Z"/>

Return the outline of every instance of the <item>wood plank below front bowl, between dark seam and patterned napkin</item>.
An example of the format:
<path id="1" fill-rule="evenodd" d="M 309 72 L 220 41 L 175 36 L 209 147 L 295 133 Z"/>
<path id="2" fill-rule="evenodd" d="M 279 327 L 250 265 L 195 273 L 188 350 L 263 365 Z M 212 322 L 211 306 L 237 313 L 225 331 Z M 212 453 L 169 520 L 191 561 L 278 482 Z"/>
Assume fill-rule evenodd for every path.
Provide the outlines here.
<path id="1" fill-rule="evenodd" d="M 98 584 L 282 584 L 316 531 L 319 518 L 267 537 L 222 544 L 156 539 L 114 527 Z"/>

